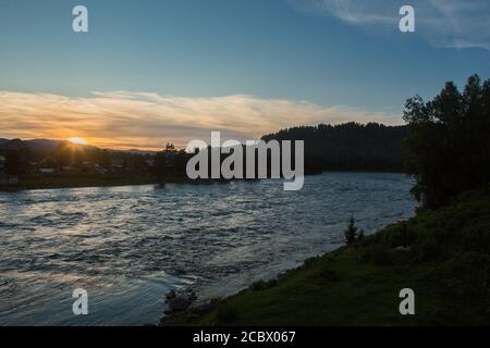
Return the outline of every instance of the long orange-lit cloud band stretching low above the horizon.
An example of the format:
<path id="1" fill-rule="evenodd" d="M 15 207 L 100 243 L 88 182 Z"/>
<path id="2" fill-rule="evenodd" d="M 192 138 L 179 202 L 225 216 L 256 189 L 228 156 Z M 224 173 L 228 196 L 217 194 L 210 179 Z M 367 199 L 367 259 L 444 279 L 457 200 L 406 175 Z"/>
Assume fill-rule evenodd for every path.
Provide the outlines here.
<path id="1" fill-rule="evenodd" d="M 78 137 L 105 148 L 184 148 L 209 140 L 211 130 L 228 139 L 257 139 L 281 128 L 318 123 L 397 124 L 399 115 L 307 101 L 261 99 L 247 95 L 210 98 L 152 92 L 94 92 L 89 97 L 0 91 L 0 137 Z"/>

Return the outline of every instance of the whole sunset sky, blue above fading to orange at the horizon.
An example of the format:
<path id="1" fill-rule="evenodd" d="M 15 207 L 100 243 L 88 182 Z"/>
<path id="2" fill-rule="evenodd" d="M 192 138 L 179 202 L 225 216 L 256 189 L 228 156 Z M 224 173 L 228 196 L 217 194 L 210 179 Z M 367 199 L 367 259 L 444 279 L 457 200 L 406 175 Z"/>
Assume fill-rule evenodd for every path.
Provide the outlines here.
<path id="1" fill-rule="evenodd" d="M 416 9 L 416 33 L 399 9 Z M 404 100 L 490 77 L 487 0 L 2 0 L 0 137 L 157 149 L 222 130 L 402 124 Z M 72 30 L 73 7 L 89 33 Z"/>

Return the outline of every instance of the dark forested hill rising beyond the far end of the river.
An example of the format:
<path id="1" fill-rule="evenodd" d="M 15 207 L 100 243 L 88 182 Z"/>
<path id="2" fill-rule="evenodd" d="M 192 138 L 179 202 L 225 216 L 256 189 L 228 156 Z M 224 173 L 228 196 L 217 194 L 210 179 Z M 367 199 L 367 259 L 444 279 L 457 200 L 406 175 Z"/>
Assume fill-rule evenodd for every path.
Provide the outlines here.
<path id="1" fill-rule="evenodd" d="M 280 130 L 264 140 L 305 140 L 306 172 L 390 171 L 401 172 L 402 140 L 406 126 L 345 123 L 320 124 Z"/>

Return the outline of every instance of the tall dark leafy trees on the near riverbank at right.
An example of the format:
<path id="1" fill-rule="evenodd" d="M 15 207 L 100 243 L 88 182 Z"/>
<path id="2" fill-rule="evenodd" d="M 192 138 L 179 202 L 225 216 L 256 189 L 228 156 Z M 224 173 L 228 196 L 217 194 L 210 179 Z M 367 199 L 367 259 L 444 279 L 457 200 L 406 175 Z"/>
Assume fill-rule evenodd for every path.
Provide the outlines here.
<path id="1" fill-rule="evenodd" d="M 441 207 L 490 181 L 490 79 L 473 75 L 463 92 L 446 83 L 430 101 L 408 99 L 404 120 L 406 170 L 424 207 Z"/>

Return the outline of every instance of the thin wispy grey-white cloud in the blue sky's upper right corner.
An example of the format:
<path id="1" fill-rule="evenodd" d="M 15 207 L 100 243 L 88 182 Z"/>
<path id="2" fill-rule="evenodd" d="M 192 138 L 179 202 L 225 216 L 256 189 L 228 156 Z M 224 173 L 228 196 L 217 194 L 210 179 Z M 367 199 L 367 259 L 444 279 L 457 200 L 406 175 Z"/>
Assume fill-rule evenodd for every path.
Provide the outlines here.
<path id="1" fill-rule="evenodd" d="M 353 25 L 391 26 L 397 30 L 399 10 L 411 4 L 416 32 L 434 47 L 490 50 L 488 0 L 291 0 L 298 9 L 338 17 Z"/>

